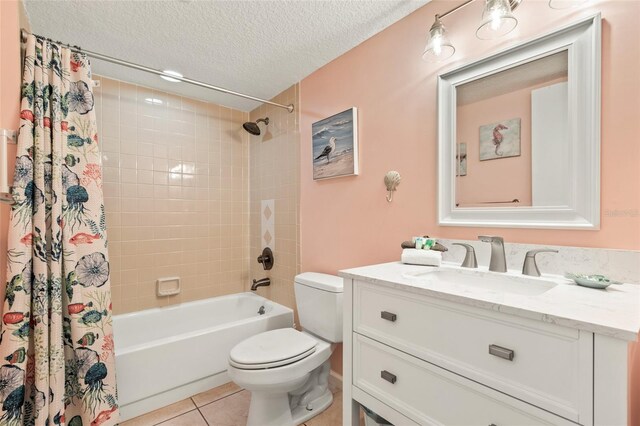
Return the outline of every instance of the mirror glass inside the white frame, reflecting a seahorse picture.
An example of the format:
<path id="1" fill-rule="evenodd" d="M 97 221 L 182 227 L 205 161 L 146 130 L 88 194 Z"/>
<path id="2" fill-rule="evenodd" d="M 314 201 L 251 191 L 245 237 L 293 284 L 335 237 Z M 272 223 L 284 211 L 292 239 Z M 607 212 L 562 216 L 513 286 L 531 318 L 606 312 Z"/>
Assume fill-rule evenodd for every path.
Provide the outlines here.
<path id="1" fill-rule="evenodd" d="M 456 87 L 456 207 L 570 205 L 567 50 Z"/>

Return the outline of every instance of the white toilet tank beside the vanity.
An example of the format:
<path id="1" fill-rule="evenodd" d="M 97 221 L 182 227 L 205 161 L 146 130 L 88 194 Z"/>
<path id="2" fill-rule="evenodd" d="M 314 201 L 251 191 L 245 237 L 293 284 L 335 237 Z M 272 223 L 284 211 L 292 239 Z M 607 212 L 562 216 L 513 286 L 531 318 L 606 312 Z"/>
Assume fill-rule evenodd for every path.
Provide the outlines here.
<path id="1" fill-rule="evenodd" d="M 342 342 L 342 285 L 342 278 L 335 275 L 296 275 L 296 305 L 303 330 L 329 342 Z"/>

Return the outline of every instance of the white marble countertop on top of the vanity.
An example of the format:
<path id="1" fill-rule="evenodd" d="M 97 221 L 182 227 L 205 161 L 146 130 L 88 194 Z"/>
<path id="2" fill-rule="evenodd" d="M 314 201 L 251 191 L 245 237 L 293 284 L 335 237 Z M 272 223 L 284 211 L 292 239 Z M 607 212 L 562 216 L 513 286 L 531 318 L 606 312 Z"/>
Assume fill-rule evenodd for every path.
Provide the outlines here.
<path id="1" fill-rule="evenodd" d="M 562 276 L 543 274 L 539 278 L 526 277 L 527 285 L 535 281 L 550 281 L 553 288 L 537 295 L 520 295 L 508 291 L 490 290 L 481 286 L 457 285 L 438 280 L 419 279 L 418 275 L 436 270 L 459 270 L 465 274 L 488 272 L 487 268 L 462 269 L 453 263 L 443 266 L 405 265 L 400 262 L 383 263 L 340 271 L 343 278 L 398 288 L 416 294 L 503 312 L 533 320 L 586 330 L 615 338 L 635 341 L 640 332 L 640 285 L 611 285 L 605 290 L 580 287 Z M 520 271 L 509 270 L 499 278 L 523 277 Z"/>

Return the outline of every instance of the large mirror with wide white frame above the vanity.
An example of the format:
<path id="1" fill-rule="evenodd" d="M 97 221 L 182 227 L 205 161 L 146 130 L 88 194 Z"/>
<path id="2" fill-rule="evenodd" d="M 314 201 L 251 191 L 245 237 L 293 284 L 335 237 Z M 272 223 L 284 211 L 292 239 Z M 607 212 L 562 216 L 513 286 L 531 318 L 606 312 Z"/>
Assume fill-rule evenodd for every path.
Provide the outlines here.
<path id="1" fill-rule="evenodd" d="M 444 226 L 599 229 L 601 17 L 438 76 Z"/>

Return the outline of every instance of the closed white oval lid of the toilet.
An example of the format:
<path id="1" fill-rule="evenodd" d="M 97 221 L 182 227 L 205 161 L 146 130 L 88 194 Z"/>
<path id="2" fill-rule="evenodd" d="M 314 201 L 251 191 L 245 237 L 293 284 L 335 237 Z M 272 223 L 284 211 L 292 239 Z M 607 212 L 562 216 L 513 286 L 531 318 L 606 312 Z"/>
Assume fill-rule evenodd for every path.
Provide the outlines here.
<path id="1" fill-rule="evenodd" d="M 244 369 L 278 367 L 306 358 L 318 342 L 294 328 L 256 334 L 238 343 L 229 354 L 231 365 Z"/>

